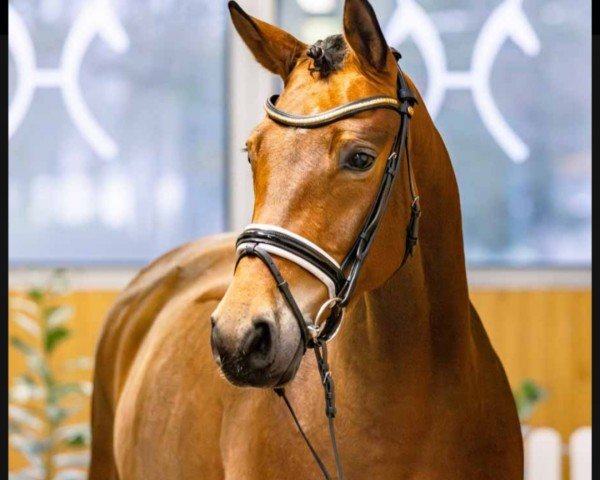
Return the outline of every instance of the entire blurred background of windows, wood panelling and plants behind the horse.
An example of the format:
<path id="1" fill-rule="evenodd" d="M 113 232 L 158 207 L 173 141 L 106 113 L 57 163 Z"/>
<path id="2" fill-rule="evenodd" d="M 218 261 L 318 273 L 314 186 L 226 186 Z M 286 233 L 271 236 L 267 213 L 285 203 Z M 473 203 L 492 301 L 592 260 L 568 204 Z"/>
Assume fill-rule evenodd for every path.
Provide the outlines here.
<path id="1" fill-rule="evenodd" d="M 341 0 L 240 4 L 341 31 Z M 372 4 L 456 170 L 527 477 L 591 478 L 591 2 Z M 103 317 L 158 255 L 248 223 L 241 148 L 281 85 L 224 0 L 10 0 L 9 22 L 11 478 L 85 478 Z"/>

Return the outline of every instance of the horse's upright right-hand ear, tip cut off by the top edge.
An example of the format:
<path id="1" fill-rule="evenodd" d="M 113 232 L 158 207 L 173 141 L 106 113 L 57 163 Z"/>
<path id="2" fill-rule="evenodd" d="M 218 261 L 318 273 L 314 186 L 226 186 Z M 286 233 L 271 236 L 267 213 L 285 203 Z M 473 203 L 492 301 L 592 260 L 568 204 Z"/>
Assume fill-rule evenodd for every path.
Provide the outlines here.
<path id="1" fill-rule="evenodd" d="M 344 36 L 361 63 L 379 72 L 385 70 L 390 49 L 367 0 L 346 0 Z"/>

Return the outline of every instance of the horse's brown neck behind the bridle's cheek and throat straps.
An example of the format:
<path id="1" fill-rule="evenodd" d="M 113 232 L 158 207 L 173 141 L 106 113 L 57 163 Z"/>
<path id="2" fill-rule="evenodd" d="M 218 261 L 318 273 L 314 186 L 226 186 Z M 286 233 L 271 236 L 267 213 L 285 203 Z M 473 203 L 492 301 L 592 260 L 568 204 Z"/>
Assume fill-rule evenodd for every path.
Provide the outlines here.
<path id="1" fill-rule="evenodd" d="M 423 210 L 418 247 L 404 267 L 349 309 L 335 341 L 344 381 L 353 384 L 354 378 L 357 389 L 406 393 L 437 373 L 464 371 L 469 361 L 470 303 L 454 171 L 426 112 L 415 116 L 409 140 Z M 405 198 L 406 188 L 396 191 Z"/>

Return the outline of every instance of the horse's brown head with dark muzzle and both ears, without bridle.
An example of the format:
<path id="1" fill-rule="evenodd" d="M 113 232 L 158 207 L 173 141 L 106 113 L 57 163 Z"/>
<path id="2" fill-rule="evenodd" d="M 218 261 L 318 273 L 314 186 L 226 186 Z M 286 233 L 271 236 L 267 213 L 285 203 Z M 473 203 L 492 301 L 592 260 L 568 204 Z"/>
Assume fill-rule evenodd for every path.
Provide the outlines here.
<path id="1" fill-rule="evenodd" d="M 256 60 L 283 80 L 278 109 L 311 115 L 369 96 L 396 98 L 396 60 L 366 0 L 346 0 L 344 34 L 312 46 L 249 16 L 235 2 L 229 9 Z M 398 114 L 386 109 L 319 128 L 265 118 L 246 142 L 255 197 L 252 223 L 301 235 L 341 263 L 373 205 L 399 122 Z M 394 191 L 353 297 L 383 284 L 401 264 L 406 222 L 389 213 L 408 218 L 408 191 Z M 314 318 L 328 298 L 323 283 L 281 256 L 273 260 L 302 314 Z M 265 264 L 241 258 L 212 315 L 213 354 L 225 376 L 237 385 L 260 387 L 293 379 L 304 353 L 295 318 Z"/>

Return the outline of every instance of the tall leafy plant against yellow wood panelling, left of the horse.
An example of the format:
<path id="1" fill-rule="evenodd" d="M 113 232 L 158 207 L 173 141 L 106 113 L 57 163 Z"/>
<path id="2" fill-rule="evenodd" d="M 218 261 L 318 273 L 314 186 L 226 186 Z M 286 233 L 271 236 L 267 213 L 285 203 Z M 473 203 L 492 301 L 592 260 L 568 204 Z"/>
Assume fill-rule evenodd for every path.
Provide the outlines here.
<path id="1" fill-rule="evenodd" d="M 9 473 L 12 480 L 87 477 L 89 426 L 72 418 L 88 403 L 92 385 L 72 377 L 76 370 L 90 370 L 92 362 L 56 359 L 72 334 L 66 280 L 64 271 L 55 271 L 44 286 L 9 298 L 10 348 L 26 365 L 9 389 L 9 444 L 27 461 L 25 468 Z"/>

